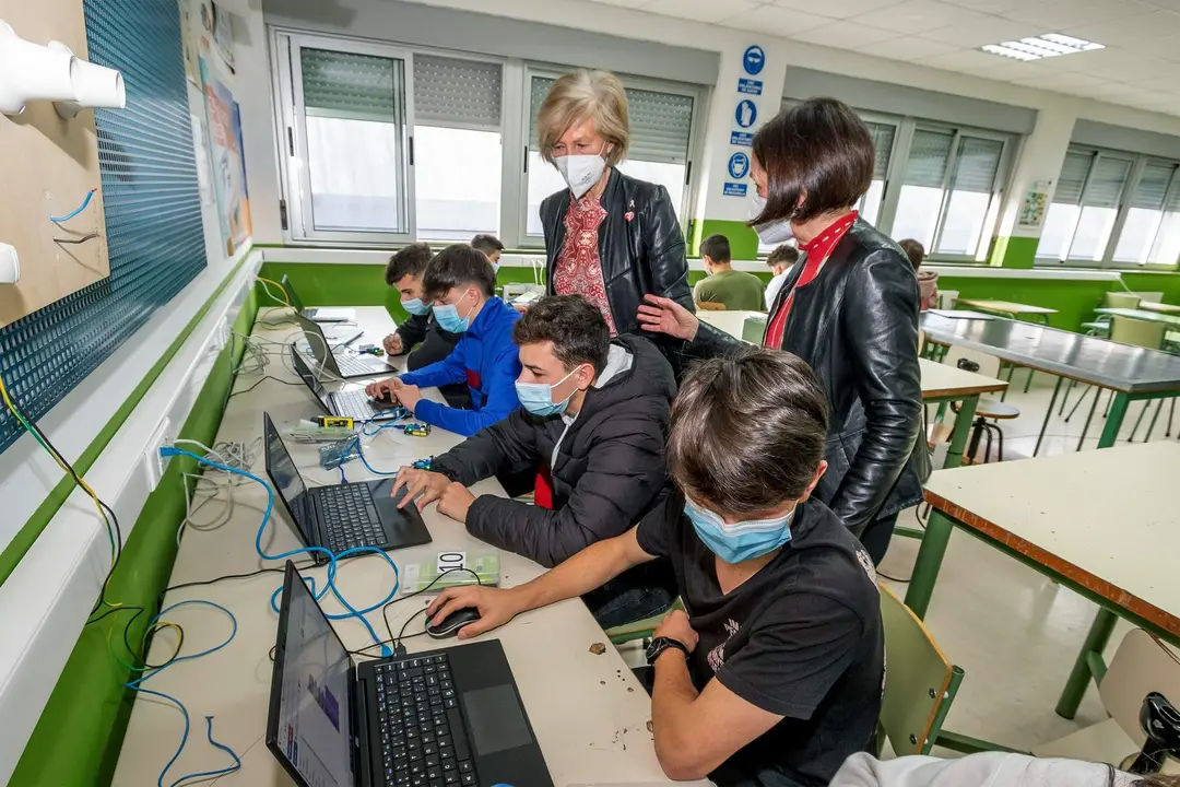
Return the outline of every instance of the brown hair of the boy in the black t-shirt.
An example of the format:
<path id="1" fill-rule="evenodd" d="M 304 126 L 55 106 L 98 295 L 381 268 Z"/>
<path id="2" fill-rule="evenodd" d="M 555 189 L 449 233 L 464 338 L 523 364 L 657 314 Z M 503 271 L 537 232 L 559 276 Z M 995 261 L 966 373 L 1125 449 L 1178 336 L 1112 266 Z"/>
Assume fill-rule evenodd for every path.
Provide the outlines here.
<path id="1" fill-rule="evenodd" d="M 830 407 L 796 355 L 748 347 L 694 366 L 671 407 L 668 471 L 717 513 L 796 500 L 824 458 Z"/>

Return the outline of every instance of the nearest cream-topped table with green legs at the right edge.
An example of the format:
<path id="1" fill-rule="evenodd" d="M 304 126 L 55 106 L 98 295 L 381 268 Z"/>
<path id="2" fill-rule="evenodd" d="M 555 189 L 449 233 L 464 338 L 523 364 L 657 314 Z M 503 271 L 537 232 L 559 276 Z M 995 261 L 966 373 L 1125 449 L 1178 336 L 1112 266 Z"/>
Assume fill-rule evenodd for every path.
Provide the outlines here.
<path id="1" fill-rule="evenodd" d="M 1180 643 L 1180 444 L 940 470 L 926 481 L 932 511 L 906 605 L 925 617 L 951 531 L 958 526 L 1099 605 L 1057 703 L 1073 719 L 1119 617 Z"/>

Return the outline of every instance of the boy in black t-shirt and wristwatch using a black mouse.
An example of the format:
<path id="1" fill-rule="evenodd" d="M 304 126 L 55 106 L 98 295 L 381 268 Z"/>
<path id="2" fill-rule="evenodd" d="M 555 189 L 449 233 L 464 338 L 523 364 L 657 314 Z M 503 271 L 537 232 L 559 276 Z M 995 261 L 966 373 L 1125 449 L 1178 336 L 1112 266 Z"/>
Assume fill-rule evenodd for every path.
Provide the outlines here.
<path id="1" fill-rule="evenodd" d="M 696 366 L 673 405 L 662 505 L 509 590 L 445 590 L 435 622 L 464 608 L 465 640 L 668 558 L 684 608 L 656 629 L 651 721 L 671 779 L 727 786 L 826 785 L 868 748 L 885 643 L 868 555 L 819 500 L 828 406 L 811 368 L 746 349 Z"/>

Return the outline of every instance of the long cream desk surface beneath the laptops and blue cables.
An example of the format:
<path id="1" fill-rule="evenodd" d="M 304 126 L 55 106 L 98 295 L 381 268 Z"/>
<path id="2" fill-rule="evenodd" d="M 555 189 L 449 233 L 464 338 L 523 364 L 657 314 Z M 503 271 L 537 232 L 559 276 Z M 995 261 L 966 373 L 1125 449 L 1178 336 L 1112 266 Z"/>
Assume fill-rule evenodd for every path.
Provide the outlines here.
<path id="1" fill-rule="evenodd" d="M 392 329 L 392 321 L 381 308 L 358 309 L 358 322 L 367 330 L 365 341 L 380 342 Z M 288 333 L 255 329 L 255 336 L 273 341 L 281 341 Z M 270 349 L 277 352 L 280 348 Z M 278 358 L 270 359 L 267 374 L 296 380 Z M 236 389 L 248 387 L 257 376 L 240 375 Z M 437 391 L 428 393 L 438 398 Z M 268 380 L 253 392 L 230 400 L 218 439 L 254 440 L 261 437 L 263 411 L 270 414 L 280 432 L 301 418 L 321 414 L 312 393 L 302 385 L 287 386 Z M 368 441 L 365 452 L 378 470 L 394 470 L 415 459 L 441 453 L 459 440 L 458 435 L 442 429 L 434 429 L 427 438 L 411 438 L 386 429 Z M 319 468 L 314 445 L 288 440 L 287 447 L 309 484 L 336 483 L 339 473 Z M 254 473 L 266 478 L 261 453 Z M 347 473 L 349 480 L 373 478 L 355 461 L 347 465 Z M 494 479 L 480 483 L 473 491 L 477 494 L 504 493 Z M 277 562 L 262 560 L 254 546 L 266 498 L 258 485 L 247 481 L 235 491 L 237 504 L 227 525 L 209 532 L 188 531 L 170 584 L 281 566 Z M 217 505 L 210 503 L 203 511 L 212 517 Z M 437 559 L 440 551 L 490 549 L 468 536 L 461 524 L 439 514 L 433 505 L 422 512 L 422 518 L 434 540 L 425 546 L 392 552 L 391 557 L 399 569 L 407 563 Z M 277 499 L 263 543 L 273 555 L 300 545 Z M 531 560 L 500 552 L 500 581 L 504 585 L 522 584 L 542 571 Z M 315 576 L 317 586 L 321 586 L 326 568 L 308 569 L 304 573 Z M 352 604 L 362 608 L 384 598 L 392 579 L 388 564 L 381 557 L 365 556 L 341 562 L 337 586 Z M 165 597 L 165 605 L 188 598 L 216 602 L 234 612 L 238 625 L 237 636 L 224 649 L 170 667 L 146 682 L 145 688 L 170 694 L 184 702 L 190 716 L 188 745 L 169 770 L 165 783 L 186 773 L 229 765 L 229 758 L 205 740 L 206 715 L 215 717 L 214 737 L 242 758 L 242 769 L 223 776 L 218 783 L 250 787 L 291 783 L 264 742 L 273 669 L 269 652 L 275 644 L 277 627 L 277 615 L 271 612 L 269 599 L 281 584 L 282 575 L 266 573 L 251 579 L 229 579 L 216 585 L 172 591 Z M 426 599 L 415 597 L 392 606 L 389 618 L 394 632 L 425 603 Z M 334 601 L 326 601 L 324 609 L 329 612 L 342 611 Z M 229 632 L 228 619 L 205 606 L 181 608 L 170 612 L 168 619 L 184 628 L 184 652 L 209 648 L 223 641 Z M 369 614 L 368 619 L 381 638 L 386 638 L 381 611 Z M 419 616 L 407 634 L 418 630 L 421 619 Z M 334 627 L 350 650 L 372 644 L 363 627 L 355 619 L 335 621 Z M 651 719 L 650 700 L 582 602 L 571 599 L 522 615 L 485 636 L 498 638 L 504 645 L 525 710 L 557 787 L 668 781 L 647 729 Z M 590 652 L 590 645 L 596 642 L 607 644 L 607 651 L 601 656 Z M 168 658 L 173 643 L 169 635 L 158 636 L 150 660 L 158 663 Z M 450 644 L 455 644 L 455 641 L 430 637 L 406 641 L 411 652 Z M 182 730 L 183 720 L 175 707 L 149 695 L 138 695 L 113 783 L 118 787 L 156 783 L 160 769 L 179 743 Z"/>

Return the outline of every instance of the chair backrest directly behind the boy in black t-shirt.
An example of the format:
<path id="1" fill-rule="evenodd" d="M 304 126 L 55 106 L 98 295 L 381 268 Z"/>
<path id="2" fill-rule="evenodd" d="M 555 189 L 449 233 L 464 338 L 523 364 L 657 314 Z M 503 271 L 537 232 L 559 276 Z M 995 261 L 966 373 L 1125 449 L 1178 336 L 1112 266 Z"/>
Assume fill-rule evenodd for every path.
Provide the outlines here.
<path id="1" fill-rule="evenodd" d="M 881 585 L 885 696 L 880 723 L 893 753 L 926 754 L 955 699 L 963 670 L 939 650 L 925 624 Z"/>

